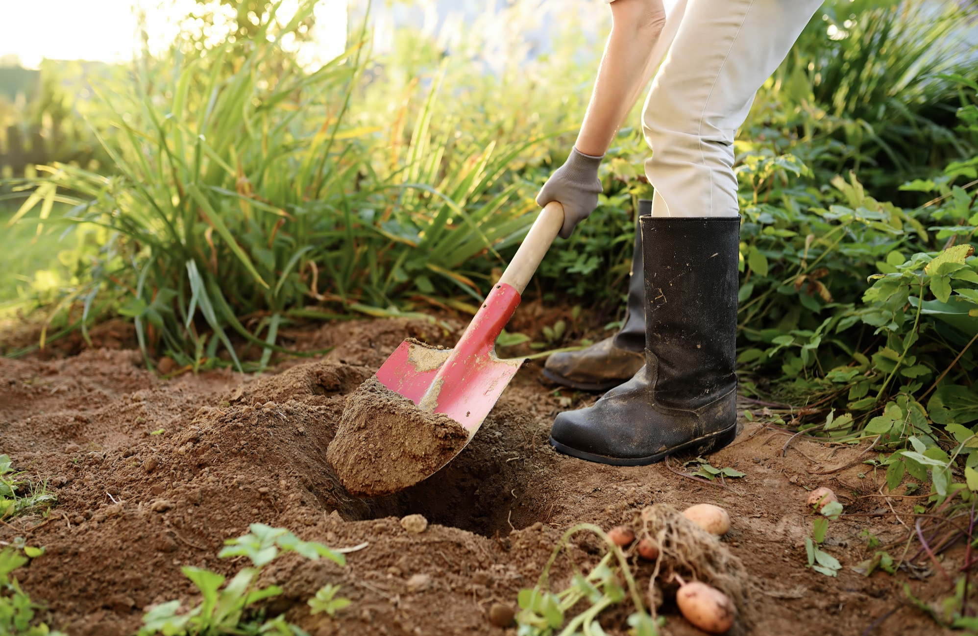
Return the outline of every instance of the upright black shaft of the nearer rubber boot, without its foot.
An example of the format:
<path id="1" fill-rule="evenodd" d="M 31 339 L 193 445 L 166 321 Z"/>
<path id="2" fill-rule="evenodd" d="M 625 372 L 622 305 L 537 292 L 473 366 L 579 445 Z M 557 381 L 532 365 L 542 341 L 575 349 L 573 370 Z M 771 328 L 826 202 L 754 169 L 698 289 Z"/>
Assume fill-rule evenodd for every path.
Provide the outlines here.
<path id="1" fill-rule="evenodd" d="M 655 400 L 695 409 L 736 386 L 740 217 L 640 222 L 645 358 Z"/>

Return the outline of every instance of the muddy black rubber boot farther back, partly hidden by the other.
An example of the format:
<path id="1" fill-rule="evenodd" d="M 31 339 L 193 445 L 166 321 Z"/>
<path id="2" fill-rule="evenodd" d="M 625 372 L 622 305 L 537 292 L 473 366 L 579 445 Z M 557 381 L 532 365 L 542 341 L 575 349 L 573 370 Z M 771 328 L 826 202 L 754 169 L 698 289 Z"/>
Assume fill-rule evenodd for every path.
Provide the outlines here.
<path id="1" fill-rule="evenodd" d="M 638 219 L 650 214 L 652 202 L 639 200 L 635 251 L 628 280 L 628 308 L 618 333 L 580 351 L 547 358 L 544 377 L 578 390 L 607 390 L 627 382 L 645 364 L 645 282 L 642 269 L 642 229 Z"/>

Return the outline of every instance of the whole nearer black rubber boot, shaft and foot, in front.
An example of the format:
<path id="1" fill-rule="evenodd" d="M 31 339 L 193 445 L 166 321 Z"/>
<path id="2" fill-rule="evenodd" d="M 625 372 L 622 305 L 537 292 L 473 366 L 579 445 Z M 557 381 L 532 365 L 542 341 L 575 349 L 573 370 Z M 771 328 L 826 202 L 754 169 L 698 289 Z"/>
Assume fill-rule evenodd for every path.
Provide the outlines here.
<path id="1" fill-rule="evenodd" d="M 739 217 L 644 216 L 645 366 L 594 406 L 556 416 L 567 455 L 644 466 L 736 435 Z"/>

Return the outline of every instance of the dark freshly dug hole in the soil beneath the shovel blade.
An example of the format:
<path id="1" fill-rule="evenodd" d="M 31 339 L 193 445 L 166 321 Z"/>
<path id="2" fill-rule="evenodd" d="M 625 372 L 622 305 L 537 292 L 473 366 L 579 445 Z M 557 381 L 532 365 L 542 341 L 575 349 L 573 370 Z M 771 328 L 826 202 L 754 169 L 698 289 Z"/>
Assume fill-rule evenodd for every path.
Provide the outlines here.
<path id="1" fill-rule="evenodd" d="M 336 506 L 344 519 L 421 514 L 428 522 L 493 536 L 547 522 L 553 514 L 554 453 L 525 411 L 499 405 L 466 449 L 418 485 L 374 499 L 348 495 Z"/>

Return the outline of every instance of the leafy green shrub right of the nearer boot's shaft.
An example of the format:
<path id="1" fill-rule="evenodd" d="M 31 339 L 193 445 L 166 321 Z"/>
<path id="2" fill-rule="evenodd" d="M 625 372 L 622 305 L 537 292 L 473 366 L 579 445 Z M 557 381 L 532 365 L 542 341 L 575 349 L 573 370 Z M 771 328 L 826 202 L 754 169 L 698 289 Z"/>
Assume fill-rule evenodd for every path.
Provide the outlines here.
<path id="1" fill-rule="evenodd" d="M 972 111 L 961 109 L 965 126 Z M 750 166 L 741 174 L 753 180 Z M 974 435 L 962 425 L 978 420 L 978 258 L 968 243 L 978 196 L 966 190 L 976 177 L 978 157 L 907 183 L 938 195 L 910 210 L 868 197 L 855 176 L 833 179 L 834 193 L 778 187 L 767 193 L 778 204 L 744 206 L 739 311 L 751 344 L 738 360 L 769 375 L 779 368 L 774 390 L 786 399 L 844 407 L 848 413 L 833 410 L 801 428 L 839 440 L 873 437 L 895 451 L 879 461 L 893 487 L 906 464 L 921 481 L 929 470 L 941 499 L 953 492 L 947 469 L 955 457 L 972 466 Z M 961 178 L 969 181 L 956 185 Z M 808 211 L 803 198 L 815 203 Z M 941 248 L 929 249 L 935 240 Z"/>

